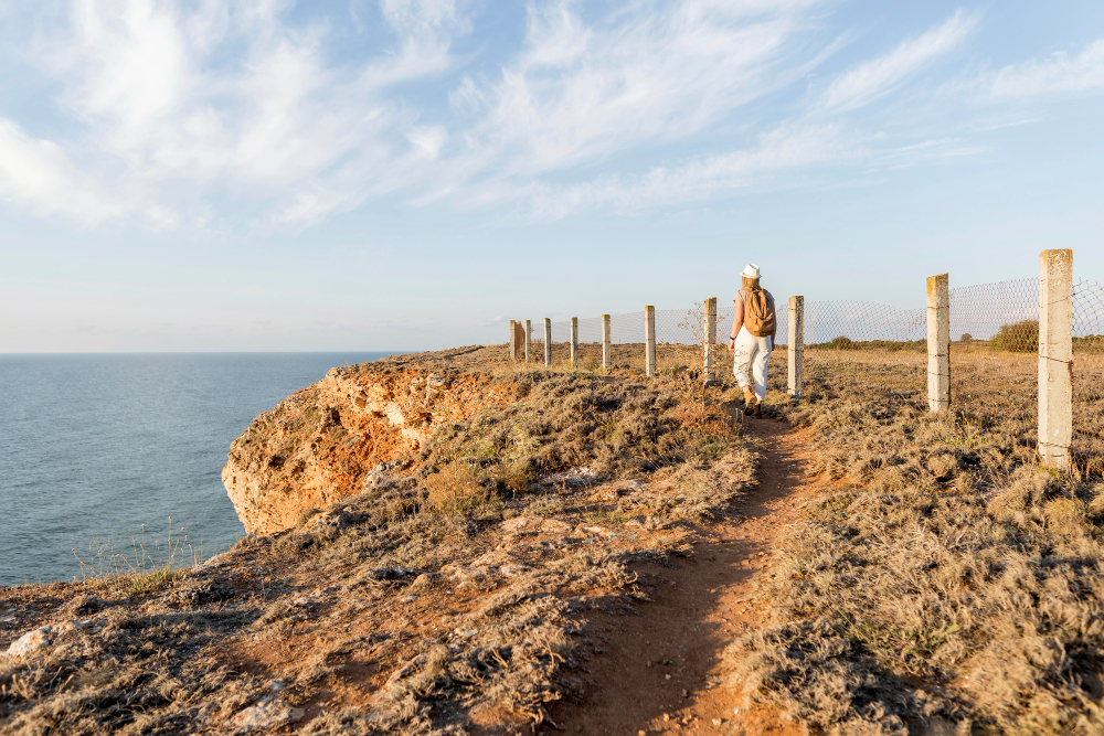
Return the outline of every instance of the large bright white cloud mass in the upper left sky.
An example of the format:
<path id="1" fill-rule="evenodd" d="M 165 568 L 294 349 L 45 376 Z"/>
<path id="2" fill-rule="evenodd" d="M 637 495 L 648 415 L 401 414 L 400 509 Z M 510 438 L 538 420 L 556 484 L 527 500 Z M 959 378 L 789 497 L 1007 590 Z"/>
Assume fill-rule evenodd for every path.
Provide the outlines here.
<path id="1" fill-rule="evenodd" d="M 264 222 L 305 225 L 355 206 L 369 192 L 410 185 L 415 153 L 396 142 L 416 115 L 384 92 L 452 63 L 453 3 L 385 0 L 397 45 L 359 66 L 333 63 L 330 31 L 290 25 L 287 9 L 266 0 L 204 0 L 198 8 L 79 0 L 64 29 L 32 47 L 61 83 L 71 119 L 84 127 L 55 146 L 60 158 L 65 150 L 87 152 L 86 173 L 71 166 L 56 169 L 67 172 L 57 177 L 146 192 L 158 204 L 141 212 L 157 225 L 173 211 L 206 218 L 209 202 L 227 195 L 245 209 L 267 209 Z M 425 127 L 418 138 L 422 158 L 435 153 L 434 130 Z M 439 149 L 444 139 L 436 135 Z M 28 191 L 49 198 L 43 188 Z M 76 206 L 38 204 L 72 210 L 85 222 L 135 210 L 105 205 L 93 216 L 91 203 Z"/>

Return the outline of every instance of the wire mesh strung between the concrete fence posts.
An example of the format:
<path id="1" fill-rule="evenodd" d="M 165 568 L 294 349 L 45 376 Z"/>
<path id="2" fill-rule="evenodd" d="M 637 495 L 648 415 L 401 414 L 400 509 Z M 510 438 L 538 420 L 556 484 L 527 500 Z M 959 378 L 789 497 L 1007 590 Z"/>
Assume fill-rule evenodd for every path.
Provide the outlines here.
<path id="1" fill-rule="evenodd" d="M 978 430 L 997 426 L 1027 436 L 1038 424 L 1039 279 L 951 289 L 951 402 Z M 769 385 L 786 388 L 789 310 L 775 297 L 778 330 Z M 731 376 L 725 344 L 731 301 L 719 300 L 714 366 Z M 701 365 L 704 310 L 656 310 L 657 367 Z M 645 312 L 611 316 L 614 365 L 641 369 Z M 543 355 L 543 321 L 533 323 L 534 359 Z M 569 360 L 571 322 L 552 323 L 554 364 Z M 805 394 L 811 401 L 859 386 L 868 395 L 926 406 L 927 310 L 868 301 L 805 303 Z M 602 364 L 602 318 L 578 320 L 580 363 Z M 1104 473 L 1104 286 L 1082 279 L 1073 289 L 1073 455 Z"/>

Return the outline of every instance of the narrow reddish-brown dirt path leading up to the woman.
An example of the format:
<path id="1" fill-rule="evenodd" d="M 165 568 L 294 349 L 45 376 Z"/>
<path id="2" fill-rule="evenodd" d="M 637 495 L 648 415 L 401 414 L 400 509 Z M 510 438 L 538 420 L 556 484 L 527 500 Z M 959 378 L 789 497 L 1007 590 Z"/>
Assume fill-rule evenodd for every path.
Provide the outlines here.
<path id="1" fill-rule="evenodd" d="M 804 433 L 773 419 L 745 426 L 763 439 L 763 458 L 758 488 L 739 506 L 744 520 L 708 527 L 679 569 L 641 569 L 652 601 L 640 616 L 591 617 L 595 657 L 583 703 L 552 712 L 560 733 L 798 733 L 771 714 L 749 713 L 736 689 L 716 686 L 724 647 L 760 618 L 750 602 L 753 579 L 815 488 L 805 474 Z"/>

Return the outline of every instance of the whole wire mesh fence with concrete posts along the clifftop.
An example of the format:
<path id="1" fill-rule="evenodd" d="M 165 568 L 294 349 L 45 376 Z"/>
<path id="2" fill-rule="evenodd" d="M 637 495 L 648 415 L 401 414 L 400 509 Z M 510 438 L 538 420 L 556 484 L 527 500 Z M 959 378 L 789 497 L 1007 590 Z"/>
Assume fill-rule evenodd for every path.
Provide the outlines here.
<path id="1" fill-rule="evenodd" d="M 1064 467 L 1072 455 L 1080 467 L 1100 474 L 1104 472 L 1104 286 L 1073 281 L 1072 254 L 1053 254 L 1070 252 L 1043 252 L 1037 278 L 948 288 L 946 275 L 933 277 L 927 306 L 913 309 L 868 301 L 804 302 L 796 297 L 795 310 L 778 299 L 778 354 L 769 385 L 808 401 L 861 385 L 868 394 L 933 410 L 968 407 L 978 430 L 998 424 L 1007 428 L 1009 423 L 1038 428 L 1044 461 Z M 1068 258 L 1064 275 L 1048 270 L 1053 267 L 1048 257 Z M 708 339 L 711 309 L 714 340 Z M 792 316 L 798 328 L 794 335 Z M 601 318 L 545 320 L 541 332 L 549 344 L 534 345 L 530 354 L 546 355 L 548 364 L 643 367 L 648 374 L 702 365 L 711 377 L 714 370 L 728 373 L 720 366 L 725 365 L 722 356 L 728 355 L 724 342 L 732 318 L 732 302 L 707 300 L 681 310 L 649 307 Z M 521 337 L 514 335 L 511 328 L 511 354 L 520 356 Z M 543 335 L 533 337 L 534 343 L 544 342 Z M 797 350 L 790 351 L 795 339 Z M 785 362 L 779 362 L 783 352 Z M 703 353 L 704 364 L 699 362 Z M 786 363 L 788 371 L 779 371 L 777 366 Z"/>

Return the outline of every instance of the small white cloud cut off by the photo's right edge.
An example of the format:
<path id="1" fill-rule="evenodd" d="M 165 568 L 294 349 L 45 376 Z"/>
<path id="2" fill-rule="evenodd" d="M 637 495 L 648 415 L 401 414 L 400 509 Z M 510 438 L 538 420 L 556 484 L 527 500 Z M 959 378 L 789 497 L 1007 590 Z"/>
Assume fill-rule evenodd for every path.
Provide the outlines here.
<path id="1" fill-rule="evenodd" d="M 989 82 L 995 99 L 1104 88 L 1104 39 L 1089 44 L 1076 56 L 1058 52 L 1044 61 L 1011 64 Z"/>

